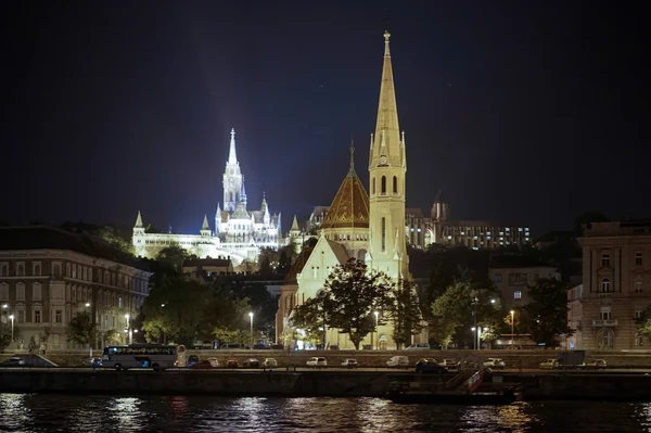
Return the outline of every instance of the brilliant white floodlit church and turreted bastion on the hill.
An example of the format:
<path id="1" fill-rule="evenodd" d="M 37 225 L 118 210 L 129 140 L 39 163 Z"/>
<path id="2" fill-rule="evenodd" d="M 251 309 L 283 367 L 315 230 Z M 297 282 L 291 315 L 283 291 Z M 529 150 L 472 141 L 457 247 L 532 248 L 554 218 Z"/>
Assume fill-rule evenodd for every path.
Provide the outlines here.
<path id="1" fill-rule="evenodd" d="M 154 257 L 161 250 L 178 244 L 200 258 L 230 258 L 237 267 L 244 260 L 256 262 L 263 247 L 277 250 L 281 246 L 280 213 L 271 214 L 265 194 L 263 193 L 259 208 L 247 208 L 244 175 L 235 151 L 234 129 L 231 130 L 222 183 L 224 208 L 217 203 L 214 230 L 205 215 L 199 234 L 148 233 L 139 212 L 132 237 L 136 254 Z"/>

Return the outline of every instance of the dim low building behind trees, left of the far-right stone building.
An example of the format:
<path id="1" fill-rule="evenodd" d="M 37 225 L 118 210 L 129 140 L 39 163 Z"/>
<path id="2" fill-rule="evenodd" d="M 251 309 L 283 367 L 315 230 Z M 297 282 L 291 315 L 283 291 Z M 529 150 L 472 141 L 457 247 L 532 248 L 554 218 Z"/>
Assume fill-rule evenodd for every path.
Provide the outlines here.
<path id="1" fill-rule="evenodd" d="M 539 279 L 561 276 L 553 266 L 524 255 L 500 255 L 490 258 L 488 277 L 502 295 L 507 310 L 519 309 L 531 302 L 529 288 Z"/>

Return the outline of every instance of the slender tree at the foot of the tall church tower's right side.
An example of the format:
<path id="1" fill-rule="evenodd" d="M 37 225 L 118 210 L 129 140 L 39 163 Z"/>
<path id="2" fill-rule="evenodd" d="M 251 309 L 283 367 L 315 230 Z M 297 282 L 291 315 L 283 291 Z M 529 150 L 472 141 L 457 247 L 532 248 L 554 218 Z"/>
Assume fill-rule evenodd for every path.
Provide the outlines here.
<path id="1" fill-rule="evenodd" d="M 386 311 L 394 324 L 393 339 L 398 348 L 410 344 L 411 338 L 422 331 L 420 303 L 412 282 L 400 280 L 393 286 Z"/>

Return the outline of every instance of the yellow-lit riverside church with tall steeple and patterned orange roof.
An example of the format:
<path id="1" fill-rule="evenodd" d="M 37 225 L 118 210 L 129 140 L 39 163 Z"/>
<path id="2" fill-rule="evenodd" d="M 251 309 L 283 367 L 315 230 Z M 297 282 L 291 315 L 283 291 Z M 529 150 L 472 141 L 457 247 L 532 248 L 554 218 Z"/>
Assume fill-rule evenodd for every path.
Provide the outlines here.
<path id="1" fill-rule="evenodd" d="M 319 238 L 312 249 L 303 249 L 282 286 L 276 316 L 277 341 L 292 343 L 290 317 L 294 306 L 316 296 L 334 267 L 350 257 L 365 260 L 368 268 L 385 272 L 394 281 L 409 279 L 405 239 L 405 132 L 398 126 L 388 38 L 384 34 L 384 59 L 378 120 L 369 149 L 369 186 L 366 191 L 357 176 L 350 149 L 348 173 L 324 214 Z M 297 228 L 296 228 L 297 229 Z M 290 235 L 298 230 L 290 231 Z M 352 347 L 336 329 L 326 331 L 327 344 Z M 391 324 L 380 326 L 375 341 L 367 336 L 361 345 L 393 348 Z"/>

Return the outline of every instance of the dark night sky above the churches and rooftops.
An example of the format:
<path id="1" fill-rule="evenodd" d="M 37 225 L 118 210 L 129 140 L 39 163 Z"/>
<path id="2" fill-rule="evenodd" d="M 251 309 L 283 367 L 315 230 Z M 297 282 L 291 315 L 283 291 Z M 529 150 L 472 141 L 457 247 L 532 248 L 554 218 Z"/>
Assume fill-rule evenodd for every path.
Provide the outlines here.
<path id="1" fill-rule="evenodd" d="M 140 209 L 199 232 L 235 128 L 248 201 L 266 191 L 286 230 L 330 204 L 352 137 L 368 186 L 385 29 L 409 207 L 429 213 L 441 188 L 452 217 L 534 234 L 591 209 L 651 216 L 650 35 L 634 2 L 99 3 L 1 7 L 1 220 Z"/>

